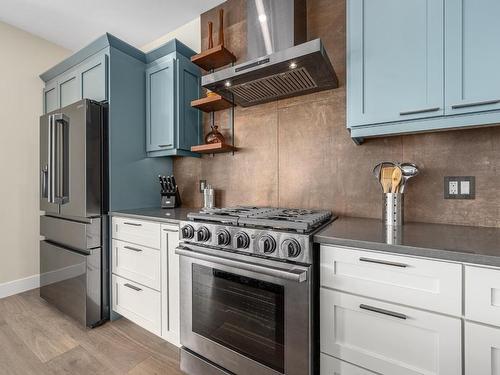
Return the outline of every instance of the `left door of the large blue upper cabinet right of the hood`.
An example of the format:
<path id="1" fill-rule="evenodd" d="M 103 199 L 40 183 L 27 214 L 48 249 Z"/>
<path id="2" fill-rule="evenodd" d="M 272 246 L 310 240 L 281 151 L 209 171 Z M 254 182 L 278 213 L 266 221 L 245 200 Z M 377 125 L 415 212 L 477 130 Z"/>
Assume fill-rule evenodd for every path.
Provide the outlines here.
<path id="1" fill-rule="evenodd" d="M 348 0 L 349 127 L 444 114 L 443 9 L 444 0 Z"/>

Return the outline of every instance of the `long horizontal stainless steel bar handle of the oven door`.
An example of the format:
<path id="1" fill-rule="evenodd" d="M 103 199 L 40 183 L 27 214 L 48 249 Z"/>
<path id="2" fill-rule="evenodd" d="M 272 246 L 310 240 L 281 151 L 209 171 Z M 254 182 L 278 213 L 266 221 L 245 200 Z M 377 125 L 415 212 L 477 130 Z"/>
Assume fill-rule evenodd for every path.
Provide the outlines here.
<path id="1" fill-rule="evenodd" d="M 246 263 L 246 262 L 244 263 L 233 259 L 222 258 L 220 256 L 215 257 L 209 254 L 198 253 L 191 250 L 185 250 L 184 248 L 181 247 L 176 248 L 175 253 L 189 258 L 205 260 L 208 262 L 220 264 L 222 266 L 235 267 L 240 270 L 258 272 L 263 275 L 277 277 L 279 279 L 295 281 L 298 283 L 307 281 L 307 269 L 304 267 L 294 266 L 293 268 L 289 269 L 281 269 L 276 267 L 261 266 L 255 263 Z"/>

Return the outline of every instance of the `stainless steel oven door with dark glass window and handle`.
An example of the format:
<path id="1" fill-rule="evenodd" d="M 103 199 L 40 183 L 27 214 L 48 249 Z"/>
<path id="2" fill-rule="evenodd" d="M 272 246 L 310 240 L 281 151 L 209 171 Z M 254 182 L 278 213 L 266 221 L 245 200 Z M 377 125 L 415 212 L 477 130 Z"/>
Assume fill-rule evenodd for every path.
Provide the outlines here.
<path id="1" fill-rule="evenodd" d="M 238 375 L 309 375 L 311 267 L 181 245 L 181 343 Z"/>

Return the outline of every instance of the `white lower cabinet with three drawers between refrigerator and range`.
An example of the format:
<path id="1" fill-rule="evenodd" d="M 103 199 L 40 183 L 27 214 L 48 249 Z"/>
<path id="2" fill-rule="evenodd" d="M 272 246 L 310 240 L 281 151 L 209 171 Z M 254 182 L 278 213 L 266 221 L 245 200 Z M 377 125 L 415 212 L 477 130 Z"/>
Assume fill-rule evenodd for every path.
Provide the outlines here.
<path id="1" fill-rule="evenodd" d="M 179 226 L 113 217 L 113 311 L 180 346 Z"/>

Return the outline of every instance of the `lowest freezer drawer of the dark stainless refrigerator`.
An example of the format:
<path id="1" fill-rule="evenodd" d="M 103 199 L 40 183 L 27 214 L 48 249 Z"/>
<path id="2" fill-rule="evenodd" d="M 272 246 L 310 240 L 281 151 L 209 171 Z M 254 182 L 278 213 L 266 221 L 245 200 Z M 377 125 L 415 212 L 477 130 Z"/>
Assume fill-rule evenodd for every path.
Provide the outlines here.
<path id="1" fill-rule="evenodd" d="M 84 255 L 40 241 L 40 297 L 87 327 L 101 321 L 101 249 Z"/>

